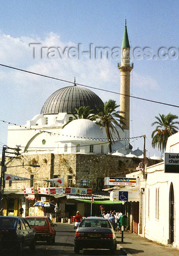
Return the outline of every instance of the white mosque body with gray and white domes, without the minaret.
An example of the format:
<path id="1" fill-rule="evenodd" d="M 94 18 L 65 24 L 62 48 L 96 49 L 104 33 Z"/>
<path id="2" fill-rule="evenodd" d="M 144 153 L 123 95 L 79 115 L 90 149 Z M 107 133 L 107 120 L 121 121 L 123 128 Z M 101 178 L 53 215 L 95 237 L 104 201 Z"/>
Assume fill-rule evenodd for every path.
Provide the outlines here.
<path id="1" fill-rule="evenodd" d="M 68 86 L 55 91 L 42 107 L 41 114 L 35 115 L 24 125 L 8 126 L 8 146 L 20 145 L 23 153 L 108 153 L 108 140 L 105 131 L 92 121 L 72 119 L 75 109 L 90 106 L 97 113 L 96 105 L 103 104 L 101 99 L 91 90 L 76 86 Z M 117 128 L 118 129 L 118 128 Z M 129 131 L 118 129 L 120 138 L 115 142 L 113 151 L 119 149 L 126 154 L 129 150 Z M 117 136 L 114 138 L 118 140 Z M 101 144 L 105 142 L 105 144 Z M 90 148 L 91 144 L 91 149 Z M 98 144 L 98 146 L 96 146 Z M 79 147 L 81 145 L 81 147 Z M 89 148 L 85 149 L 85 145 Z M 92 149 L 94 145 L 95 150 Z M 75 148 L 75 146 L 78 148 Z M 68 150 L 66 151 L 66 147 Z"/>

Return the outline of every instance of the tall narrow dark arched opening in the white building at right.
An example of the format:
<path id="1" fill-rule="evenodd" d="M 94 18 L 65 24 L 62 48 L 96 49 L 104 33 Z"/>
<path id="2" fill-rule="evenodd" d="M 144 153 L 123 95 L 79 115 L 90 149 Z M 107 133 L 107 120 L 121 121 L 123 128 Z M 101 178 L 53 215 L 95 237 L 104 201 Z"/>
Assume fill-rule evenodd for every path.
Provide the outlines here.
<path id="1" fill-rule="evenodd" d="M 174 242 L 174 189 L 173 183 L 170 184 L 169 190 L 169 243 L 172 244 Z"/>

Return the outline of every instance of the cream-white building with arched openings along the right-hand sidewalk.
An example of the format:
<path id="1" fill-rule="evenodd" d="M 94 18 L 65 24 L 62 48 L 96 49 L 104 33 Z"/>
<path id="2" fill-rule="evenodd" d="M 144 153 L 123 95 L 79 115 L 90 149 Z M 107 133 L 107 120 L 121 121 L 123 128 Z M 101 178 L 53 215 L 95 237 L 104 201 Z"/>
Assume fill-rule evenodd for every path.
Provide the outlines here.
<path id="1" fill-rule="evenodd" d="M 170 136 L 167 153 L 179 155 L 179 132 Z M 179 249 L 179 164 L 177 173 L 165 173 L 165 163 L 126 175 L 140 178 L 137 233 Z"/>

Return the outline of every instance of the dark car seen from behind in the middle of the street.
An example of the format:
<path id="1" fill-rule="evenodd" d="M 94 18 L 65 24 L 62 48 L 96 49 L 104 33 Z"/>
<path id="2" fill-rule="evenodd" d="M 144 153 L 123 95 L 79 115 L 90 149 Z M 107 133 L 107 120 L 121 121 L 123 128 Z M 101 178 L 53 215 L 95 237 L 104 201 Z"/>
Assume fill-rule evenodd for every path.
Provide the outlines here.
<path id="1" fill-rule="evenodd" d="M 80 222 L 75 233 L 75 253 L 84 248 L 110 249 L 114 253 L 116 247 L 116 235 L 108 219 L 87 217 Z"/>

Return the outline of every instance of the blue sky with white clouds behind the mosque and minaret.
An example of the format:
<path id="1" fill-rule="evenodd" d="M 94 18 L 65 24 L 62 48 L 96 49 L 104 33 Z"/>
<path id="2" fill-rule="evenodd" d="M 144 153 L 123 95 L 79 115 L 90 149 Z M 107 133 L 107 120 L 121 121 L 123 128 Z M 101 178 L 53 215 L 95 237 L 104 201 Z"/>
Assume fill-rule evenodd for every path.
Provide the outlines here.
<path id="1" fill-rule="evenodd" d="M 49 76 L 120 92 L 120 59 L 34 59 L 29 43 L 48 47 L 83 45 L 120 47 L 125 19 L 132 49 L 179 48 L 178 1 L 1 1 L 0 63 Z M 131 73 L 131 94 L 179 105 L 178 56 L 175 59 L 136 59 Z M 51 93 L 68 86 L 63 82 L 23 74 L 0 67 L 1 120 L 25 124 L 40 113 Z M 120 97 L 93 90 L 106 101 Z M 130 137 L 147 135 L 147 154 L 160 152 L 151 146 L 151 123 L 159 113 L 178 115 L 178 108 L 131 99 Z M 0 143 L 7 142 L 7 124 L 0 122 Z M 143 140 L 132 143 L 143 148 Z"/>

